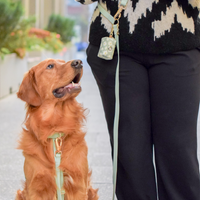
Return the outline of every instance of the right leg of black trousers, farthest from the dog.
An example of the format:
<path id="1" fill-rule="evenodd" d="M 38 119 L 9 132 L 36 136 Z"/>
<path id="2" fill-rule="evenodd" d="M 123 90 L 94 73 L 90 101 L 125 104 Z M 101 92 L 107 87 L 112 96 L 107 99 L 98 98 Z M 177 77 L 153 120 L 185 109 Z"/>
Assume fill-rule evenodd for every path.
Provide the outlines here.
<path id="1" fill-rule="evenodd" d="M 200 200 L 197 115 L 200 52 L 152 56 L 152 134 L 159 200 Z"/>

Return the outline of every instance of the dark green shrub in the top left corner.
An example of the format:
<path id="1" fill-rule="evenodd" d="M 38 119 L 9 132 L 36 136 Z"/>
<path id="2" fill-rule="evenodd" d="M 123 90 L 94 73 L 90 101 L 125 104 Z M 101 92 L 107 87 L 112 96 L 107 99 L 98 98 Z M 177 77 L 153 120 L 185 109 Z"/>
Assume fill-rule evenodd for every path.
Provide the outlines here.
<path id="1" fill-rule="evenodd" d="M 23 15 L 19 1 L 0 0 L 0 51 Z"/>

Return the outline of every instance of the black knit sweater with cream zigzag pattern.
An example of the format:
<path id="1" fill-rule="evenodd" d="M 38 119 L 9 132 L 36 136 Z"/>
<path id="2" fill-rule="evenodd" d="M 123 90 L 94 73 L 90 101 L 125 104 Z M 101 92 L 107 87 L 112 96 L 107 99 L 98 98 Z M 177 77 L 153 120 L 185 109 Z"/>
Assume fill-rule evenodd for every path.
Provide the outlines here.
<path id="1" fill-rule="evenodd" d="M 90 4 L 97 0 L 76 0 Z M 118 0 L 99 0 L 112 15 Z M 120 50 L 163 54 L 200 47 L 200 0 L 128 0 L 120 19 Z M 111 23 L 94 10 L 89 42 L 100 45 L 109 36 Z"/>

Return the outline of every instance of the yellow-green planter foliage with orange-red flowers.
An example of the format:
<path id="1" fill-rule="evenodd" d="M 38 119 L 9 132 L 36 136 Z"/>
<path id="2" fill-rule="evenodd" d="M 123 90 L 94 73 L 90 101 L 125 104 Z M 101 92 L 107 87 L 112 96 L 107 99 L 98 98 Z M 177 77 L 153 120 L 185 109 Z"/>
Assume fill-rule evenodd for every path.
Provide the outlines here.
<path id="1" fill-rule="evenodd" d="M 3 47 L 2 56 L 16 53 L 23 58 L 27 51 L 41 51 L 47 49 L 58 53 L 63 49 L 60 35 L 39 28 L 32 27 L 35 24 L 35 17 L 20 19 L 15 29 L 10 33 Z"/>

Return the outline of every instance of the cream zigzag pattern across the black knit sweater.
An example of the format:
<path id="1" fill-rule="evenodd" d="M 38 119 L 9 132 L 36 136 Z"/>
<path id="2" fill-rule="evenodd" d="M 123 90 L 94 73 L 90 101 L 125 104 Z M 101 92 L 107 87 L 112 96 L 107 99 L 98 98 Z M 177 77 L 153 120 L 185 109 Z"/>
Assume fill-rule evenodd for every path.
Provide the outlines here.
<path id="1" fill-rule="evenodd" d="M 116 1 L 116 0 L 114 0 Z M 135 25 L 138 24 L 138 20 L 143 17 L 146 17 L 147 11 L 152 11 L 153 3 L 158 3 L 159 0 L 139 0 L 136 3 L 135 10 L 132 7 L 132 1 L 128 0 L 128 5 L 126 10 L 124 11 L 124 17 L 128 18 L 129 21 L 129 32 L 132 34 L 135 31 Z M 192 7 L 200 8 L 200 0 L 189 0 L 188 3 Z M 107 10 L 107 5 L 105 3 L 101 3 L 101 5 Z M 110 13 L 110 11 L 108 10 Z M 96 9 L 92 16 L 92 22 L 95 21 L 96 17 L 99 16 L 99 9 Z M 166 13 L 161 12 L 161 20 L 155 20 L 152 22 L 152 29 L 154 30 L 154 40 L 160 38 L 165 34 L 165 31 L 170 32 L 172 25 L 174 24 L 175 15 L 177 16 L 177 21 L 181 24 L 183 30 L 187 32 L 195 33 L 195 25 L 193 18 L 188 18 L 186 13 L 184 13 L 182 7 L 180 7 L 176 0 L 172 2 L 172 4 L 167 7 Z M 112 25 L 102 14 L 101 16 L 101 24 L 110 33 Z"/>

